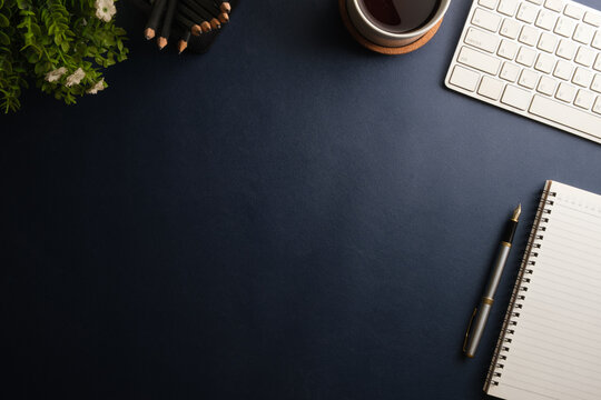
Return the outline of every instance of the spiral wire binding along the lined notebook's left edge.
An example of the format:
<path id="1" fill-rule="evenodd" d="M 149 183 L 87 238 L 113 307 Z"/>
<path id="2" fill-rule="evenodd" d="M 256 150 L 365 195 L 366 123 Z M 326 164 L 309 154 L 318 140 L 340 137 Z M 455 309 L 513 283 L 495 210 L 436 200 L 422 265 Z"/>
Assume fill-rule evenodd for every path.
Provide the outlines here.
<path id="1" fill-rule="evenodd" d="M 503 320 L 502 334 L 499 337 L 499 341 L 494 349 L 494 361 L 491 363 L 484 383 L 485 391 L 487 391 L 491 386 L 499 386 L 500 379 L 503 376 L 503 368 L 505 367 L 505 361 L 509 357 L 512 337 L 515 333 L 520 312 L 523 308 L 523 302 L 526 299 L 528 288 L 536 267 L 535 259 L 539 257 L 538 249 L 542 247 L 544 232 L 546 231 L 546 224 L 549 223 L 549 216 L 553 211 L 553 204 L 555 203 L 553 200 L 554 197 L 556 197 L 556 192 L 549 191 L 546 188 L 542 192 L 541 201 L 536 209 L 536 217 L 534 218 L 534 226 L 530 232 L 524 258 L 522 259 L 520 272 L 518 273 L 518 280 L 515 281 L 511 294 L 510 307 L 508 308 L 508 312 Z"/>

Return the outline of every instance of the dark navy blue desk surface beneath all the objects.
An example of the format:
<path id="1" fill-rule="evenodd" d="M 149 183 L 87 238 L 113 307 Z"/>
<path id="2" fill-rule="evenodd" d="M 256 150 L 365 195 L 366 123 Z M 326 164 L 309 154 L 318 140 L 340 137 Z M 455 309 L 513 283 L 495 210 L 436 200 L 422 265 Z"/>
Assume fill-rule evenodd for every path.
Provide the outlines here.
<path id="1" fill-rule="evenodd" d="M 601 192 L 601 147 L 444 88 L 470 4 L 383 57 L 335 0 L 243 1 L 178 58 L 119 2 L 108 90 L 0 117 L 3 398 L 483 398 L 544 180 Z"/>

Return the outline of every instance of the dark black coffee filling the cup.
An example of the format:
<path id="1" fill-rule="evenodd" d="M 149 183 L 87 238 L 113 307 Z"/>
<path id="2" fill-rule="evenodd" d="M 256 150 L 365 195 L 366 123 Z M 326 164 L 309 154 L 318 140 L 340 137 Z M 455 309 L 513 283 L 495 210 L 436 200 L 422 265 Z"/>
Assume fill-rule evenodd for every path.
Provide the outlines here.
<path id="1" fill-rule="evenodd" d="M 430 21 L 440 0 L 359 0 L 370 21 L 392 33 L 403 33 L 421 28 Z"/>

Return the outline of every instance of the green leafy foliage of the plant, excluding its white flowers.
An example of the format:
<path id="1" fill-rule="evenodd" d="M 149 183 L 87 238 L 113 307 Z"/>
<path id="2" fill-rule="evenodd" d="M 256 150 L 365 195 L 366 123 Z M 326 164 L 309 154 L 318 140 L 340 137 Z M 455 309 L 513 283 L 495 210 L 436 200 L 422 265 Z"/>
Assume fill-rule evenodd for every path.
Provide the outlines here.
<path id="1" fill-rule="evenodd" d="M 102 69 L 127 59 L 126 31 L 95 16 L 95 0 L 0 0 L 0 107 L 4 112 L 20 107 L 27 77 L 67 104 L 85 96 L 102 79 Z M 65 67 L 58 82 L 46 74 Z M 65 79 L 81 68 L 86 76 L 67 88 Z"/>

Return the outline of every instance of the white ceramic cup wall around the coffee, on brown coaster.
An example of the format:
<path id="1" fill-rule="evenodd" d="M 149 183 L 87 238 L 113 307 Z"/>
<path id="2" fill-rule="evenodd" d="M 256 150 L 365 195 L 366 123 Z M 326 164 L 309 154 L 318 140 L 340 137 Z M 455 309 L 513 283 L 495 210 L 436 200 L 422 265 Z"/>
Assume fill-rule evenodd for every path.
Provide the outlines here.
<path id="1" fill-rule="evenodd" d="M 346 0 L 346 9 L 348 10 L 351 23 L 353 23 L 357 31 L 372 43 L 388 48 L 398 48 L 417 41 L 442 20 L 451 3 L 451 0 L 441 0 L 439 8 L 433 13 L 432 18 L 418 29 L 403 33 L 393 33 L 376 27 L 370 18 L 365 16 L 359 6 L 359 1 L 361 0 Z"/>

